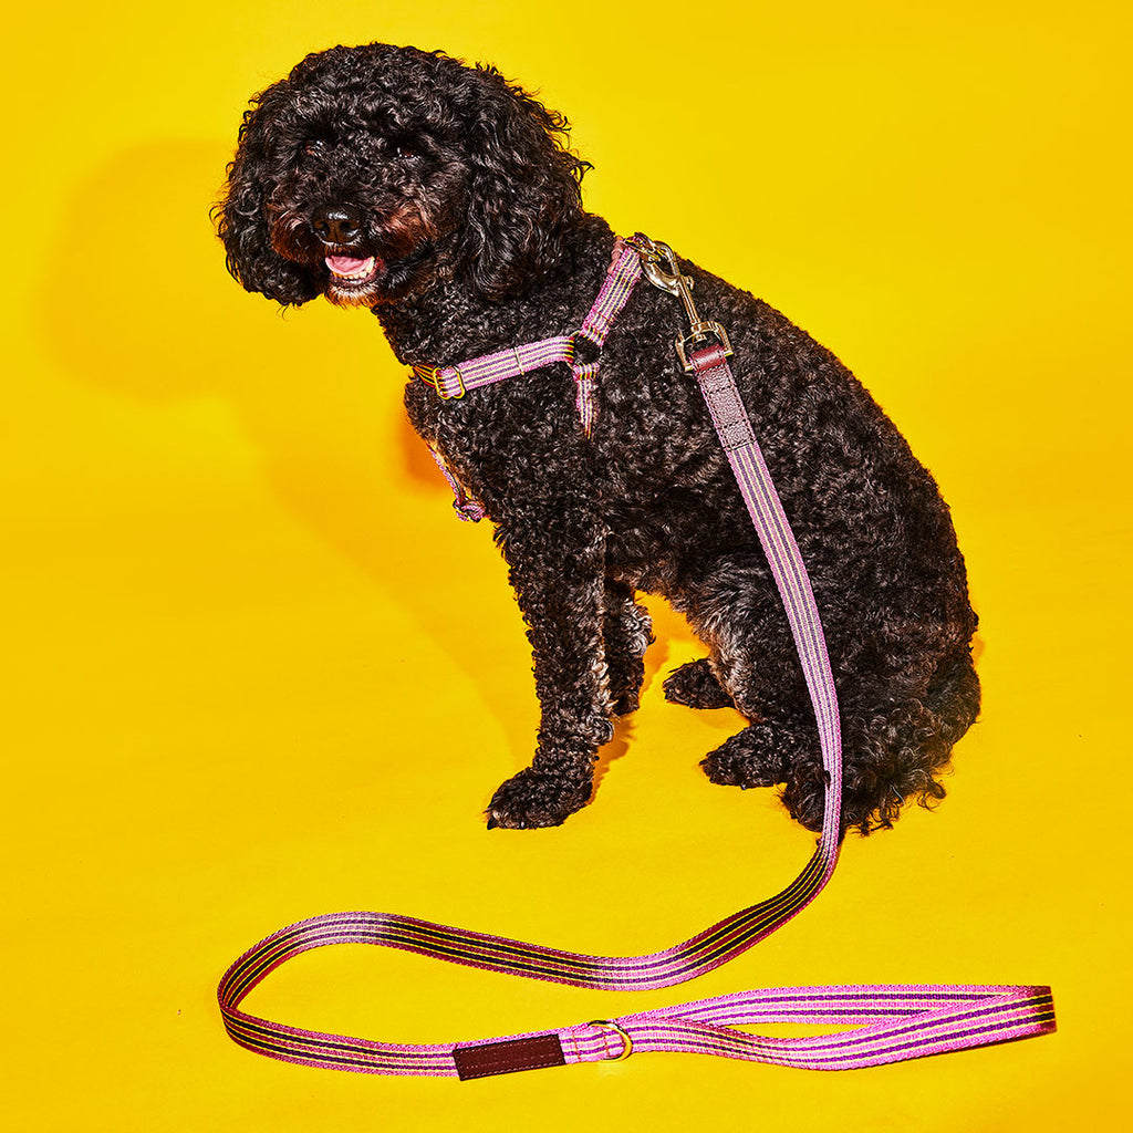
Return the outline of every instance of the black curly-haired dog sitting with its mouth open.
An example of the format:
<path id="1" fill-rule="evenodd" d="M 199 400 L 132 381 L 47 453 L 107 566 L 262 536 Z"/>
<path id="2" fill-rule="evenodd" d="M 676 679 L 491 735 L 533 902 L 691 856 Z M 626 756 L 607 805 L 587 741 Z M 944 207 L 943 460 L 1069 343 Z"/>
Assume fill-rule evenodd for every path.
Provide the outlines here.
<path id="1" fill-rule="evenodd" d="M 450 366 L 576 331 L 614 235 L 583 211 L 566 122 L 494 68 L 370 44 L 305 59 L 244 118 L 218 206 L 228 267 L 278 303 L 373 309 L 400 361 Z M 733 369 L 825 622 L 843 714 L 844 826 L 889 826 L 976 719 L 976 616 L 936 484 L 864 389 L 750 295 L 682 262 Z M 491 826 L 554 826 L 593 791 L 651 640 L 634 591 L 664 595 L 709 649 L 665 681 L 748 726 L 704 760 L 714 783 L 782 784 L 821 826 L 824 774 L 801 668 L 758 538 L 695 378 L 676 300 L 641 283 L 600 357 L 587 437 L 552 365 L 410 420 L 483 504 L 528 625 L 542 706 L 531 766 Z"/>

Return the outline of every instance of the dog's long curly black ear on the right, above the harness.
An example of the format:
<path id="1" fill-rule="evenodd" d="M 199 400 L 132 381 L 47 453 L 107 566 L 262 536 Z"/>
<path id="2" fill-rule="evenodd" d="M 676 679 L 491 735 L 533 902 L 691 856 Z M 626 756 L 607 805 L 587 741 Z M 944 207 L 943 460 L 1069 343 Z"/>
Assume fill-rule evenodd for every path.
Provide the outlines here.
<path id="1" fill-rule="evenodd" d="M 499 299 L 563 255 L 582 213 L 579 184 L 590 167 L 566 148 L 566 120 L 477 67 L 468 155 L 468 264 L 480 291 Z"/>

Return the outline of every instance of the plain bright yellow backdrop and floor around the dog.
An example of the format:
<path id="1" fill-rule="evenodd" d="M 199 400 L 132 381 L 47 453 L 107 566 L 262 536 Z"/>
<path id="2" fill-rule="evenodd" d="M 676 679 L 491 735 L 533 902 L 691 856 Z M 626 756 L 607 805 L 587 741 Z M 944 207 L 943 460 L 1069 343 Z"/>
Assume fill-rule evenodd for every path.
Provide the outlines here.
<path id="1" fill-rule="evenodd" d="M 1126 9 L 761 7 L 111 0 L 9 18 L 11 1128 L 1126 1119 Z M 661 603 L 595 803 L 554 830 L 484 829 L 536 724 L 489 534 L 452 517 L 374 321 L 280 317 L 229 280 L 207 221 L 247 95 L 370 39 L 540 90 L 596 167 L 594 208 L 855 369 L 953 505 L 985 709 L 936 813 L 851 840 L 804 915 L 690 987 L 627 999 L 344 948 L 249 1006 L 442 1041 L 744 987 L 1033 981 L 1055 988 L 1057 1036 L 841 1075 L 653 1055 L 470 1084 L 301 1070 L 225 1038 L 220 974 L 303 917 L 638 953 L 770 894 L 812 845 L 768 792 L 700 774 L 738 719 L 663 700 L 698 647 Z M 684 171 L 707 152 L 730 176 Z"/>

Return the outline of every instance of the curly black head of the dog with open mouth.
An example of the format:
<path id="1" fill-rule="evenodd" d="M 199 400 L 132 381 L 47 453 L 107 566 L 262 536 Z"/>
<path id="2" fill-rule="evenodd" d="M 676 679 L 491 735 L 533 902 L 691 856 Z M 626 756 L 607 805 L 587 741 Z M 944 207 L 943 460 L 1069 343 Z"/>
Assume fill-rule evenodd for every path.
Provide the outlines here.
<path id="1" fill-rule="evenodd" d="M 499 299 L 581 214 L 566 122 L 494 68 L 374 43 L 308 56 L 244 116 L 214 210 L 228 269 L 284 305 Z"/>

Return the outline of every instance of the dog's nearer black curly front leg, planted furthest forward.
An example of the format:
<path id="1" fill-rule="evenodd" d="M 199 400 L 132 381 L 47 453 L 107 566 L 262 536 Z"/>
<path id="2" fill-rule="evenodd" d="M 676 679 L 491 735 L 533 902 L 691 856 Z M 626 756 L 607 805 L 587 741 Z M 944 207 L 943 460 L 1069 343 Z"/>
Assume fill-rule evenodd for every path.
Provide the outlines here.
<path id="1" fill-rule="evenodd" d="M 587 499 L 544 500 L 496 530 L 531 642 L 542 718 L 531 766 L 508 780 L 488 826 L 557 826 L 583 807 L 613 734 L 603 646 L 605 538 Z"/>

